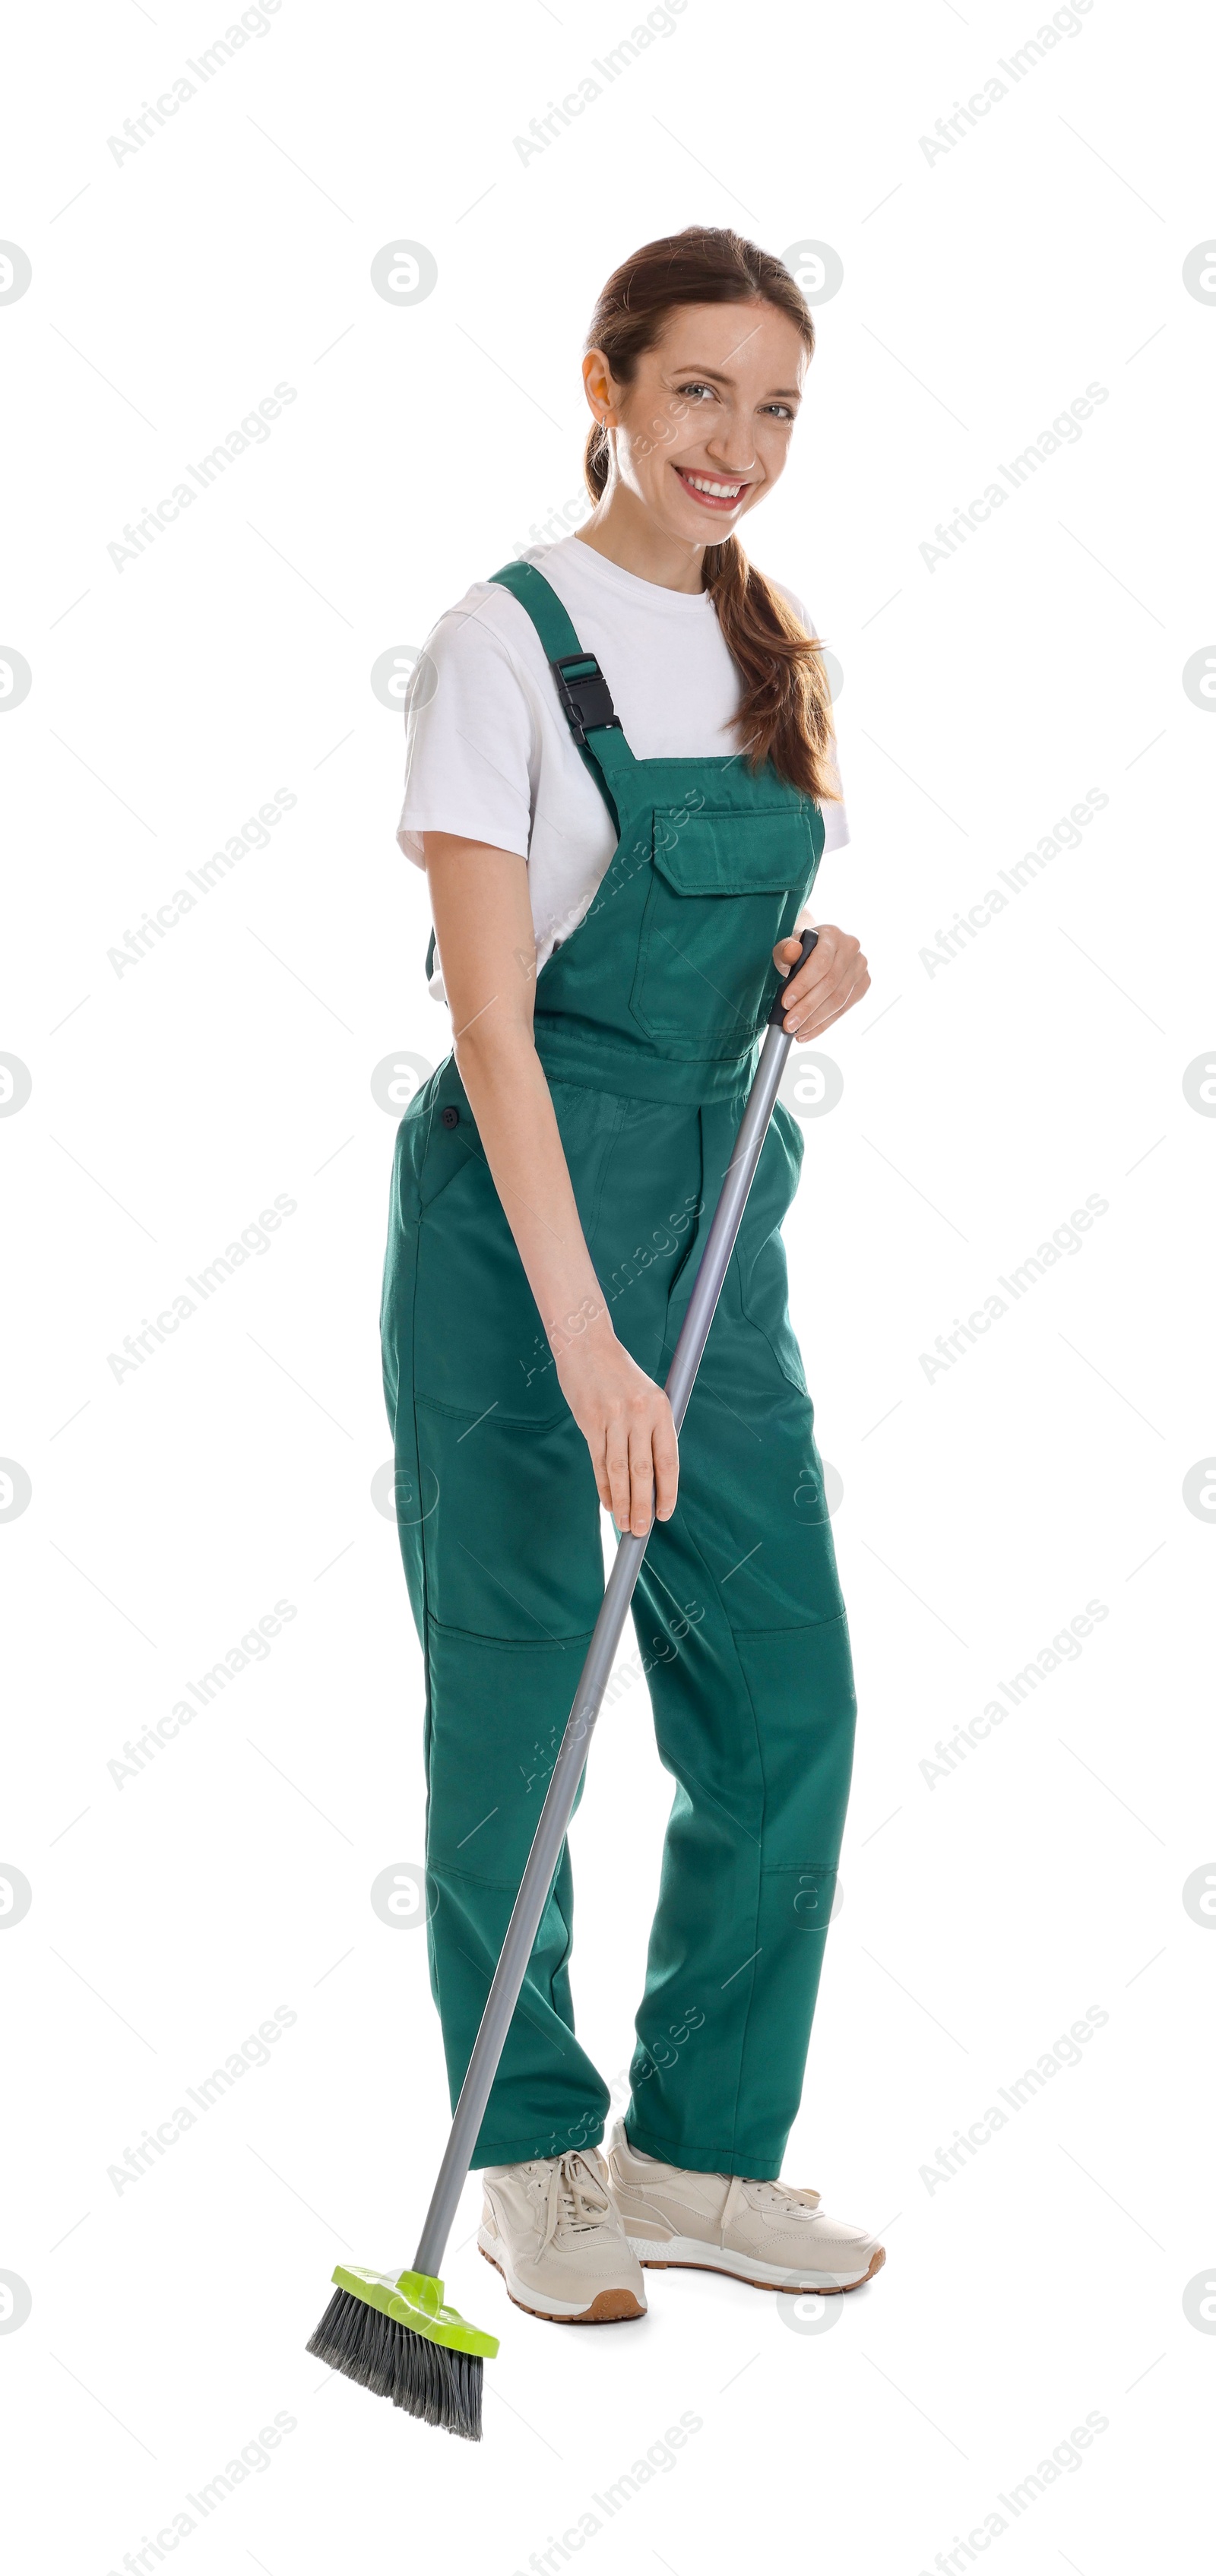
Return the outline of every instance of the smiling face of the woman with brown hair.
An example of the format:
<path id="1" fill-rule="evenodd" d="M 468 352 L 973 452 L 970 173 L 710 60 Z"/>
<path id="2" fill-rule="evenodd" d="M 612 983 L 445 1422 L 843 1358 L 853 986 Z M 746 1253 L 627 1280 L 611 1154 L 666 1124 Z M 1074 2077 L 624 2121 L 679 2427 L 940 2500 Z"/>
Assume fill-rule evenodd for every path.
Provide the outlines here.
<path id="1" fill-rule="evenodd" d="M 605 505 L 675 546 L 721 546 L 783 474 L 809 350 L 773 304 L 678 304 L 616 384 L 582 361 L 587 402 L 613 430 Z"/>

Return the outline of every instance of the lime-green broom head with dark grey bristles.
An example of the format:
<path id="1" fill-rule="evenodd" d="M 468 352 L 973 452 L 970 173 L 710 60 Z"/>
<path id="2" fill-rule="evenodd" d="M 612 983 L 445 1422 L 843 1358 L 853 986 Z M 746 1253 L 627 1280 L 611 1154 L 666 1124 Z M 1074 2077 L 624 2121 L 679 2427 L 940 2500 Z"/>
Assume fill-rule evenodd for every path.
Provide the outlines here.
<path id="1" fill-rule="evenodd" d="M 497 2334 L 446 2308 L 443 2282 L 428 2272 L 366 2272 L 340 2262 L 332 2280 L 335 2295 L 307 2352 L 423 2424 L 479 2442 L 482 2362 L 495 2360 Z"/>

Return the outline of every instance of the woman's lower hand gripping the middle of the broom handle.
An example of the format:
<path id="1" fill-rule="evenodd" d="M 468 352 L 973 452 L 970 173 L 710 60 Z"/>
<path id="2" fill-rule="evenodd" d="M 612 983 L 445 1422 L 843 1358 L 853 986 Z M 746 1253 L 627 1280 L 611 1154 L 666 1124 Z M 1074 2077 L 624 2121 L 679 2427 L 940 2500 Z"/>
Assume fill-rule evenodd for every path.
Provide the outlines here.
<path id="1" fill-rule="evenodd" d="M 595 1484 L 618 1530 L 644 1538 L 654 1517 L 670 1520 L 680 1484 L 680 1448 L 662 1386 L 629 1358 L 600 1311 L 556 1355 L 556 1378 L 590 1448 Z"/>

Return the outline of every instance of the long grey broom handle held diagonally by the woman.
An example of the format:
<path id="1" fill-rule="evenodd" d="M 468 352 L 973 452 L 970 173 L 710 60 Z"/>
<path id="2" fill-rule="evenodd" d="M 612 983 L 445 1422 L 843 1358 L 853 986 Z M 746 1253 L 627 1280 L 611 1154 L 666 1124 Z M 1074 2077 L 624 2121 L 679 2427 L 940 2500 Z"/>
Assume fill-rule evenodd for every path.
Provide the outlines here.
<path id="1" fill-rule="evenodd" d="M 817 933 L 804 930 L 799 963 L 806 963 L 814 943 Z M 786 984 L 796 974 L 799 966 L 786 969 L 786 974 L 781 976 L 781 989 L 786 989 Z M 768 1121 L 773 1115 L 778 1082 L 786 1069 L 786 1056 L 793 1046 L 793 1038 L 786 1036 L 781 1018 L 783 1012 L 778 994 L 768 1020 L 768 1033 L 760 1048 L 760 1064 L 755 1069 L 755 1082 L 747 1095 L 747 1108 L 742 1113 L 739 1133 L 734 1139 L 734 1154 L 727 1164 L 721 1195 L 714 1208 L 714 1224 L 708 1229 L 708 1242 L 701 1255 L 693 1296 L 688 1298 L 688 1314 L 683 1319 L 680 1340 L 675 1345 L 675 1358 L 667 1373 L 665 1394 L 672 1406 L 675 1430 L 680 1430 L 680 1422 L 688 1409 L 688 1396 L 693 1394 L 693 1381 L 708 1342 L 714 1309 L 721 1296 L 721 1283 L 727 1278 L 732 1252 L 739 1236 L 747 1193 L 752 1188 L 755 1167 L 760 1162 L 760 1146 L 765 1141 Z M 634 1597 L 634 1584 L 639 1579 L 647 1546 L 649 1546 L 649 1530 L 644 1538 L 626 1533 L 616 1546 L 613 1571 L 608 1574 L 600 1615 L 595 1620 L 593 1641 L 587 1646 L 587 1662 L 582 1667 L 580 1687 L 575 1692 L 575 1705 L 569 1710 L 567 1731 L 562 1736 L 559 1754 L 554 1762 L 554 1775 L 549 1780 L 549 1790 L 536 1821 L 533 1847 L 528 1852 L 520 1893 L 515 1896 L 508 1937 L 502 1942 L 502 1958 L 495 1968 L 495 1981 L 487 1994 L 482 2027 L 474 2040 L 474 2053 L 469 2058 L 469 2071 L 464 2076 L 461 2099 L 456 2102 L 448 2146 L 443 2148 L 443 2164 L 438 2169 L 438 2182 L 417 2244 L 412 2269 L 425 2272 L 430 2280 L 438 2277 L 443 2262 L 451 2223 L 456 2218 L 456 2202 L 461 2197 L 464 2179 L 469 2174 L 477 2133 L 482 2128 L 484 2107 L 489 2102 L 489 2087 L 497 2074 L 497 2061 L 508 2040 L 510 2017 L 515 2012 L 515 2002 L 528 1971 L 531 1947 L 541 1924 L 549 1888 L 554 1883 L 556 1862 L 562 1857 L 562 1842 L 567 1837 L 567 1824 L 575 1811 L 575 1795 L 582 1780 L 582 1765 L 590 1752 L 595 1718 L 600 1716 L 603 1692 L 608 1687 L 608 1674 L 613 1669 L 616 1649 L 621 1643 L 621 1633 L 629 1618 L 629 1602 Z"/>

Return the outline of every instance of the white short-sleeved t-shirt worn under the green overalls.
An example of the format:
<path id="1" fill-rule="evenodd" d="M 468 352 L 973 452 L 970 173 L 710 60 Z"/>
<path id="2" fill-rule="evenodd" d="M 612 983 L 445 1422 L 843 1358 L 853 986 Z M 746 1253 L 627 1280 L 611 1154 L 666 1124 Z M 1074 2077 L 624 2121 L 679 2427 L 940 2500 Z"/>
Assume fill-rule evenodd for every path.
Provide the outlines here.
<path id="1" fill-rule="evenodd" d="M 608 680 L 636 760 L 732 757 L 739 670 L 708 590 L 641 582 L 580 536 L 533 546 L 528 564 L 569 613 Z M 806 626 L 801 600 L 783 592 Z M 404 804 L 397 840 L 420 868 L 423 832 L 453 832 L 528 860 L 536 969 L 577 930 L 616 848 L 613 819 L 562 714 L 541 639 L 500 582 L 474 582 L 430 629 L 404 701 Z M 848 842 L 824 804 L 824 853 Z M 430 979 L 443 999 L 443 979 Z"/>

